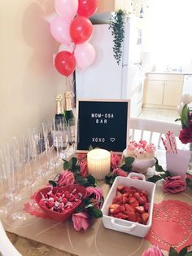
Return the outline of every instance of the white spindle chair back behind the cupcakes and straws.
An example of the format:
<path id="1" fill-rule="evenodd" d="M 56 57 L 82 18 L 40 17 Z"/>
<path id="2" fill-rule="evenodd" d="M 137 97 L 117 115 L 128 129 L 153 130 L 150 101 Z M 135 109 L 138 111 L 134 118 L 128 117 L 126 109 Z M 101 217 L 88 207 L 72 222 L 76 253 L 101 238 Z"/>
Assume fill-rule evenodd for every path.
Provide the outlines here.
<path id="1" fill-rule="evenodd" d="M 173 134 L 178 137 L 181 124 L 142 118 L 130 118 L 129 139 L 136 141 L 146 139 L 148 143 L 154 143 L 156 148 L 163 148 L 161 137 L 168 132 L 168 130 L 172 131 Z M 176 139 L 177 143 L 179 143 L 178 138 Z"/>

